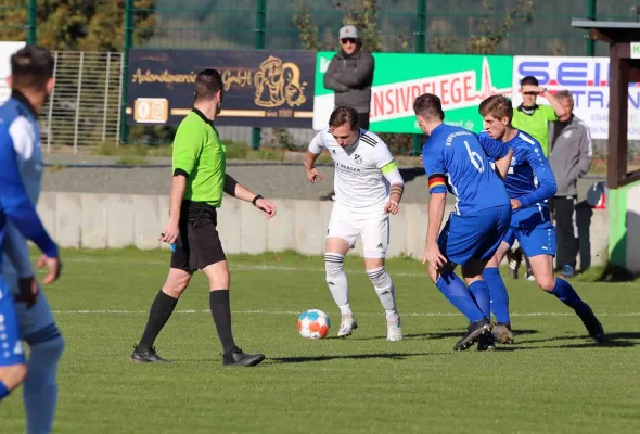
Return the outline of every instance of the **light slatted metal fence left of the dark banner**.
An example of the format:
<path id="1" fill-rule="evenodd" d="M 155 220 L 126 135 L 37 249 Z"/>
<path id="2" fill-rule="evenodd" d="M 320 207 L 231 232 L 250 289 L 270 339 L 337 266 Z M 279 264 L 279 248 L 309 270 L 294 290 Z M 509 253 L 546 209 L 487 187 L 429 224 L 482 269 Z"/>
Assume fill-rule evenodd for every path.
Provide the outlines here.
<path id="1" fill-rule="evenodd" d="M 117 143 L 123 89 L 121 53 L 56 51 L 55 87 L 40 117 L 42 145 L 52 149 Z"/>

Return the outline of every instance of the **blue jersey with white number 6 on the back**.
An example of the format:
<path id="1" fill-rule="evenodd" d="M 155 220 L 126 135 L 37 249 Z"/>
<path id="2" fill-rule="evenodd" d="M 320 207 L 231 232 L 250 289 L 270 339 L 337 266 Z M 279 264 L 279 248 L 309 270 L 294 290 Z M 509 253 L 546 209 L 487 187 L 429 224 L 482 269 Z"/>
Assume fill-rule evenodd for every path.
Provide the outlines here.
<path id="1" fill-rule="evenodd" d="M 458 201 L 456 213 L 471 214 L 492 206 L 510 204 L 504 183 L 490 165 L 509 146 L 498 140 L 483 140 L 462 127 L 440 124 L 422 148 L 430 193 L 446 193 Z"/>

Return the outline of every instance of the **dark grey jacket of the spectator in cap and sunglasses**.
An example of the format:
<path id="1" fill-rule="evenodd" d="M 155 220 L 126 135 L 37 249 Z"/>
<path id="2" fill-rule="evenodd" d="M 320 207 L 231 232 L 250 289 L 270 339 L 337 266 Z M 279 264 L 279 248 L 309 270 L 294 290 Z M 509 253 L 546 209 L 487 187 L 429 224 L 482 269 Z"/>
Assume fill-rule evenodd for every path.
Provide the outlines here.
<path id="1" fill-rule="evenodd" d="M 373 68 L 374 60 L 370 51 L 360 47 L 351 55 L 338 51 L 324 73 L 324 88 L 335 91 L 335 105 L 369 113 Z"/>

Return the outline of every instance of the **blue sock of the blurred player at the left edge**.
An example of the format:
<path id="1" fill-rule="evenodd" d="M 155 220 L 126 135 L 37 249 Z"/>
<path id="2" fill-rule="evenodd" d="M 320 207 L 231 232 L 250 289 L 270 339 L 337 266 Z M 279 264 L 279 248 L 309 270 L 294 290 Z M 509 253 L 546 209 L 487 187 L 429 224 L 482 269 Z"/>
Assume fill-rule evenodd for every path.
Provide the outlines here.
<path id="1" fill-rule="evenodd" d="M 50 328 L 55 328 L 51 324 Z M 57 328 L 55 328 L 57 331 Z M 27 416 L 27 433 L 50 433 L 57 400 L 57 362 L 64 350 L 60 334 L 49 341 L 30 346 L 27 376 L 23 384 L 23 398 Z"/>

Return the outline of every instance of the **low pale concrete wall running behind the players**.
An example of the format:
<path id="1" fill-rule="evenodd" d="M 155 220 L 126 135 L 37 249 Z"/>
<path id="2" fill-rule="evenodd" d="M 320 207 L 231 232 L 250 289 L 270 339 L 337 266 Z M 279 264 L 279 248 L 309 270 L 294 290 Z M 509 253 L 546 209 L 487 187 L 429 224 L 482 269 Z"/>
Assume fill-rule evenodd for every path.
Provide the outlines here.
<path id="1" fill-rule="evenodd" d="M 332 202 L 274 200 L 278 214 L 267 219 L 252 204 L 226 196 L 218 230 L 227 253 L 257 254 L 295 250 L 321 255 Z M 64 247 L 105 248 L 133 245 L 169 248 L 157 241 L 167 222 L 168 196 L 138 194 L 42 193 L 38 210 L 51 235 Z M 448 217 L 451 207 L 445 214 Z M 389 257 L 422 258 L 426 204 L 402 204 L 392 216 Z M 591 217 L 591 265 L 603 261 L 607 245 L 606 212 Z M 356 254 L 361 254 L 358 242 Z"/>

